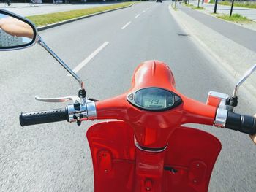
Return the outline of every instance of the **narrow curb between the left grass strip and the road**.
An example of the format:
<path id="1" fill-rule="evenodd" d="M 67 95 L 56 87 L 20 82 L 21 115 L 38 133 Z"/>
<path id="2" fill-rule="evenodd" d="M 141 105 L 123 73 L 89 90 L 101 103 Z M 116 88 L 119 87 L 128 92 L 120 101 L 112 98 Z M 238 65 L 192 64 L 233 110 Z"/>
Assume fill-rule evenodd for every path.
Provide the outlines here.
<path id="1" fill-rule="evenodd" d="M 116 11 L 116 10 L 119 10 L 119 9 L 125 9 L 125 8 L 128 8 L 128 7 L 132 7 L 132 5 L 134 5 L 135 3 L 131 4 L 131 5 L 128 5 L 127 7 L 119 7 L 119 8 L 116 8 L 116 9 L 110 9 L 110 10 L 107 10 L 107 11 L 103 11 L 103 12 L 96 12 L 96 13 L 93 13 L 93 14 L 90 14 L 90 15 L 85 15 L 85 16 L 82 16 L 80 18 L 74 18 L 74 19 L 69 19 L 69 20 L 64 20 L 64 21 L 61 21 L 59 23 L 53 23 L 53 24 L 50 24 L 48 26 L 42 26 L 42 27 L 38 27 L 37 28 L 37 31 L 44 31 L 48 28 L 53 28 L 53 27 L 57 27 L 57 26 L 61 26 L 61 25 L 64 25 L 64 24 L 67 24 L 67 23 L 71 23 L 71 22 L 74 22 L 76 20 L 82 20 L 82 19 L 85 19 L 85 18 L 90 18 L 90 17 L 93 17 L 93 16 L 96 16 L 96 15 L 101 15 L 103 13 L 106 13 L 106 12 L 113 12 L 113 11 Z"/>

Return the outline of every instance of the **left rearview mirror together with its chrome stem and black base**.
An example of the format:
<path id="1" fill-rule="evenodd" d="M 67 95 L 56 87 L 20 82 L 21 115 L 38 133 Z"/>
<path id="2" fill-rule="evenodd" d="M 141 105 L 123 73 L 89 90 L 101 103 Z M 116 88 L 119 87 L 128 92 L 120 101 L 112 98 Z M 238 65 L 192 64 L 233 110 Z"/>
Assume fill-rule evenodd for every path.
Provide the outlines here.
<path id="1" fill-rule="evenodd" d="M 18 50 L 31 47 L 36 42 L 56 59 L 56 61 L 64 67 L 64 69 L 79 82 L 79 97 L 85 99 L 86 91 L 84 90 L 83 81 L 72 71 L 72 69 L 61 60 L 61 58 L 53 52 L 37 34 L 37 28 L 31 21 L 20 17 L 12 12 L 0 9 L 0 51 Z"/>

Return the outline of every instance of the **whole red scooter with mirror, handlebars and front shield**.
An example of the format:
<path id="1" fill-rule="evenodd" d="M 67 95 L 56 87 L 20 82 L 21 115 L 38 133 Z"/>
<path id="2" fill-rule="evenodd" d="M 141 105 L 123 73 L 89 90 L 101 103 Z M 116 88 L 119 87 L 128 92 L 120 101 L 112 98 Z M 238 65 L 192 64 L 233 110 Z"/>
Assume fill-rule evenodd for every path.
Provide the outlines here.
<path id="1" fill-rule="evenodd" d="M 8 24 L 10 20 L 12 25 Z M 73 100 L 74 104 L 65 109 L 21 113 L 21 126 L 61 120 L 78 125 L 84 120 L 110 120 L 87 131 L 94 191 L 208 191 L 221 143 L 205 131 L 183 125 L 197 123 L 256 133 L 255 118 L 233 112 L 238 88 L 256 66 L 238 82 L 233 96 L 211 91 L 203 104 L 176 90 L 173 73 L 166 64 L 145 61 L 135 69 L 129 91 L 97 101 L 86 96 L 80 77 L 45 45 L 29 20 L 0 10 L 0 28 L 0 38 L 8 37 L 0 45 L 1 50 L 30 47 L 38 42 L 80 85 L 78 96 L 36 97 L 48 102 Z"/>

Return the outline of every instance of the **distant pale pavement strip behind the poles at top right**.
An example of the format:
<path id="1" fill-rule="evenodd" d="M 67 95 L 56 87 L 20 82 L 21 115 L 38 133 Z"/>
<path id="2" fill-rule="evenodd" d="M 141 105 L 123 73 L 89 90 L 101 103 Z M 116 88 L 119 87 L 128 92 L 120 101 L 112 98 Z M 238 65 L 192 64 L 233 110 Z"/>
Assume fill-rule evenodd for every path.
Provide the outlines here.
<path id="1" fill-rule="evenodd" d="M 190 0 L 189 4 L 193 4 L 194 6 L 197 7 L 198 1 L 197 0 Z M 207 4 L 207 3 L 203 3 L 202 4 L 202 0 L 200 0 L 200 7 L 205 8 L 204 11 L 210 13 L 214 12 L 214 4 Z M 226 5 L 221 5 L 218 4 L 217 5 L 217 13 L 221 13 L 221 14 L 230 14 L 230 6 L 226 6 Z M 234 13 L 238 13 L 240 15 L 245 16 L 246 18 L 250 19 L 250 20 L 254 20 L 256 21 L 256 9 L 249 9 L 249 8 L 245 8 L 245 7 L 233 7 L 233 12 Z"/>

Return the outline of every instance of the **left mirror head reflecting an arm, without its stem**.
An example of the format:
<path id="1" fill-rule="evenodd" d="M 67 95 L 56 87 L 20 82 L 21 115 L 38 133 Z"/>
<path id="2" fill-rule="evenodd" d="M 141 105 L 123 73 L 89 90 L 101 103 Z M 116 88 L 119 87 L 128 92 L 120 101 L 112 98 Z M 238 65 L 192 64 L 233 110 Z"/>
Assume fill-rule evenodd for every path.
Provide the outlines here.
<path id="1" fill-rule="evenodd" d="M 37 28 L 26 18 L 0 9 L 0 50 L 16 50 L 34 45 Z"/>

